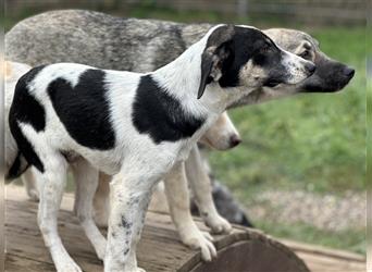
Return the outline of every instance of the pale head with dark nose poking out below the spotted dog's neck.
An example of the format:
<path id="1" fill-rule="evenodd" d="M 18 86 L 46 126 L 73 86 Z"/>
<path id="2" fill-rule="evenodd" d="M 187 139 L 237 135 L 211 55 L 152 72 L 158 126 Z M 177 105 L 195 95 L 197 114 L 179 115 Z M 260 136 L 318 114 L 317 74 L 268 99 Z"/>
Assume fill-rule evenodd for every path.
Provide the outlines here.
<path id="1" fill-rule="evenodd" d="M 199 139 L 199 143 L 218 150 L 231 149 L 239 145 L 240 141 L 239 133 L 228 118 L 227 112 L 222 113 L 218 121 Z"/>

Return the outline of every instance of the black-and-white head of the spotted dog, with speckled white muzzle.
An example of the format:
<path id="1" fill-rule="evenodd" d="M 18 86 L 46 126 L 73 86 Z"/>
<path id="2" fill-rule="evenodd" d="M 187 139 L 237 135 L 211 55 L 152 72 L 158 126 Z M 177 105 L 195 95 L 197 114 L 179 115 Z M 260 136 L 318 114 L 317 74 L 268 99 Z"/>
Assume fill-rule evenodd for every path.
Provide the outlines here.
<path id="1" fill-rule="evenodd" d="M 298 84 L 315 71 L 312 62 L 284 51 L 255 27 L 219 25 L 203 39 L 198 98 L 210 83 L 243 87 L 246 94 L 262 86 Z"/>

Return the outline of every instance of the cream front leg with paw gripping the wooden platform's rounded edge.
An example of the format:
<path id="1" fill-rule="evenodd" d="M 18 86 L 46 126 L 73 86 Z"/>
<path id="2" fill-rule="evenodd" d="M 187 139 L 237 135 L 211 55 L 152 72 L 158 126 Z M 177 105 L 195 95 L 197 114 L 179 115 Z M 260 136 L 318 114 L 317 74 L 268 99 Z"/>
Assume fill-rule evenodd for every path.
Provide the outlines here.
<path id="1" fill-rule="evenodd" d="M 191 248 L 200 248 L 202 259 L 210 261 L 216 256 L 216 251 L 211 243 L 212 237 L 208 233 L 202 233 L 191 217 L 183 162 L 174 165 L 166 174 L 164 185 L 171 217 L 182 242 Z"/>

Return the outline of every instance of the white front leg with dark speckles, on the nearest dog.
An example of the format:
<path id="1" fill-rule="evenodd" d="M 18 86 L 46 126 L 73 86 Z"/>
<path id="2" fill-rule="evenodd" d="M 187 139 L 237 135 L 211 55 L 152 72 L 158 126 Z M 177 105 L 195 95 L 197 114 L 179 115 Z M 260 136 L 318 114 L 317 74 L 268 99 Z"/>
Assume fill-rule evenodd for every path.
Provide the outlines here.
<path id="1" fill-rule="evenodd" d="M 110 218 L 106 272 L 144 272 L 137 267 L 136 246 L 144 226 L 152 184 L 117 174 L 110 184 Z"/>

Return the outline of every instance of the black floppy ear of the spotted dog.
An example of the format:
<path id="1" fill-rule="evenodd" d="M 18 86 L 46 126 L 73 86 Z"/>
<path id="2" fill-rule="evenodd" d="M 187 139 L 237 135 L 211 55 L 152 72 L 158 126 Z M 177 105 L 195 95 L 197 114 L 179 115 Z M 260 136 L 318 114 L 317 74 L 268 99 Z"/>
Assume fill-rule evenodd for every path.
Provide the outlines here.
<path id="1" fill-rule="evenodd" d="M 209 36 L 206 49 L 201 54 L 198 99 L 204 94 L 207 84 L 220 79 L 222 76 L 221 69 L 227 60 L 234 57 L 232 46 L 234 34 L 234 25 L 224 25 L 213 30 Z"/>

